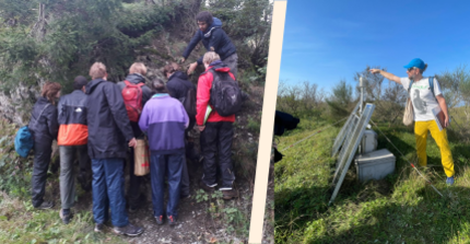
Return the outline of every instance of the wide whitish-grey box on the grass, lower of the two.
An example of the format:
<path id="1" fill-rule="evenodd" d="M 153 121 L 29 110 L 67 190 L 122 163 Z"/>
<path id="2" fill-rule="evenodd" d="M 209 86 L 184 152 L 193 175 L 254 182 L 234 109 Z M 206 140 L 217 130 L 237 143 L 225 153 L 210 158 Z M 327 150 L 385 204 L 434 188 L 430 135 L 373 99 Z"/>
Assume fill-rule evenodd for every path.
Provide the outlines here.
<path id="1" fill-rule="evenodd" d="M 368 179 L 381 179 L 395 172 L 396 158 L 387 149 L 363 153 L 354 159 L 357 179 L 365 182 Z"/>

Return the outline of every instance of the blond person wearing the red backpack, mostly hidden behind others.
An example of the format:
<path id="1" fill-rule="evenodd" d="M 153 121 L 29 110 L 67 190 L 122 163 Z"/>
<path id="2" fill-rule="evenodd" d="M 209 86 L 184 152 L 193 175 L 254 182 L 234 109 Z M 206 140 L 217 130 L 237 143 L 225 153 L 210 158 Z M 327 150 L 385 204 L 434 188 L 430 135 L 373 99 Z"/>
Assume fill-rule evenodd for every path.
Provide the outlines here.
<path id="1" fill-rule="evenodd" d="M 132 83 L 132 84 L 139 84 L 142 83 L 142 108 L 145 105 L 145 103 L 152 97 L 152 90 L 145 85 L 145 78 L 146 74 L 146 67 L 142 62 L 134 62 L 129 68 L 129 75 L 126 77 L 126 81 Z M 120 81 L 117 83 L 120 91 L 126 88 L 126 82 Z M 130 121 L 130 127 L 132 127 L 133 136 L 138 139 L 143 139 L 144 135 L 142 130 L 140 130 L 139 124 L 137 121 Z M 128 159 L 129 159 L 129 189 L 128 189 L 128 197 L 129 197 L 129 212 L 136 212 L 140 205 L 140 184 L 142 182 L 142 176 L 137 176 L 134 174 L 134 152 L 133 148 L 130 147 L 128 151 Z"/>

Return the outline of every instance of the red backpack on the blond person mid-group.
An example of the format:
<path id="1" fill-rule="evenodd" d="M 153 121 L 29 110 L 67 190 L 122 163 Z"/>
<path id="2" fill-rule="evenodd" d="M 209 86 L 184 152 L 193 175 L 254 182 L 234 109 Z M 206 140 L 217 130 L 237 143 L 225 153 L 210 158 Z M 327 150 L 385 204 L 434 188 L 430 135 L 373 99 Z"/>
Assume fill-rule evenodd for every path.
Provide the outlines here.
<path id="1" fill-rule="evenodd" d="M 142 113 L 142 86 L 144 83 L 133 84 L 129 81 L 124 81 L 126 86 L 122 89 L 124 104 L 126 105 L 127 114 L 130 121 L 139 121 L 140 113 Z"/>

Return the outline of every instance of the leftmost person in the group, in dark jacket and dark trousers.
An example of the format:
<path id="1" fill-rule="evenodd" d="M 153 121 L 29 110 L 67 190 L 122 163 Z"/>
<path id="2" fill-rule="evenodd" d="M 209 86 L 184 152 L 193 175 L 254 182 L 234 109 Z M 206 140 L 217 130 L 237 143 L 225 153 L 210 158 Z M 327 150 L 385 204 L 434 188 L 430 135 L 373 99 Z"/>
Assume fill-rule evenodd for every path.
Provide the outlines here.
<path id="1" fill-rule="evenodd" d="M 30 130 L 34 138 L 34 164 L 32 177 L 33 207 L 49 209 L 54 201 L 44 201 L 46 191 L 47 169 L 52 152 L 52 140 L 57 139 L 59 124 L 57 121 L 56 100 L 60 97 L 61 85 L 47 82 L 43 86 L 40 97 L 31 113 Z"/>

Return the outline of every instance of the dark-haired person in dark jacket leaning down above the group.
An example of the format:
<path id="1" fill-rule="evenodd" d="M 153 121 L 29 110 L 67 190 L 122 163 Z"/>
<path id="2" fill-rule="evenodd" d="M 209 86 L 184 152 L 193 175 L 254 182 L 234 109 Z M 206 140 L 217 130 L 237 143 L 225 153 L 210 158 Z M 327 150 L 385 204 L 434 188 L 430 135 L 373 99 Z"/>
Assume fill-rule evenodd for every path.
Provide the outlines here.
<path id="1" fill-rule="evenodd" d="M 188 47 L 186 47 L 183 53 L 181 62 L 189 57 L 196 45 L 202 40 L 202 44 L 208 51 L 215 51 L 221 57 L 222 62 L 231 68 L 231 72 L 236 78 L 238 55 L 236 54 L 235 45 L 228 38 L 224 30 L 222 30 L 222 22 L 219 19 L 213 18 L 208 11 L 198 13 L 198 15 L 196 15 L 196 21 L 198 22 L 200 30 L 196 32 L 189 42 Z M 192 73 L 198 65 L 202 65 L 202 56 L 189 66 L 188 74 Z"/>

